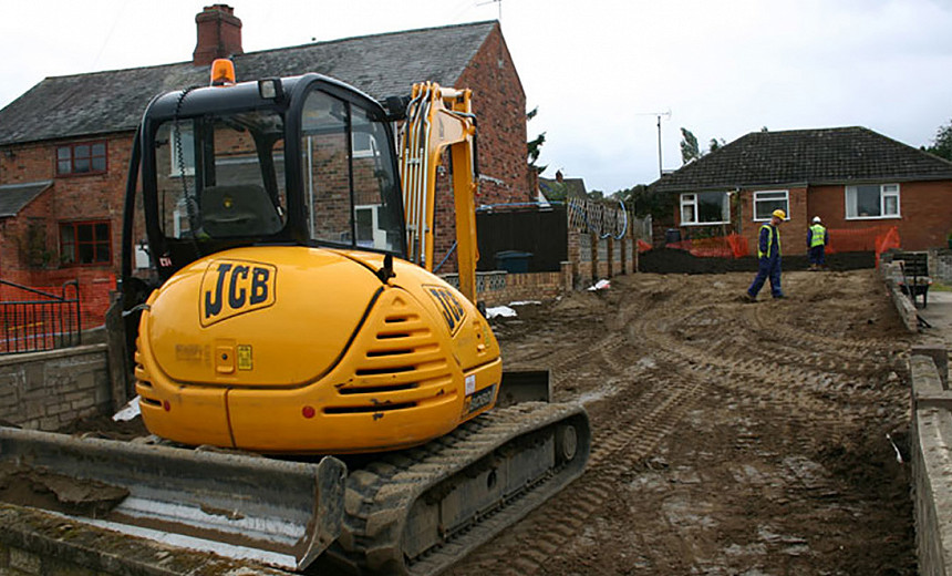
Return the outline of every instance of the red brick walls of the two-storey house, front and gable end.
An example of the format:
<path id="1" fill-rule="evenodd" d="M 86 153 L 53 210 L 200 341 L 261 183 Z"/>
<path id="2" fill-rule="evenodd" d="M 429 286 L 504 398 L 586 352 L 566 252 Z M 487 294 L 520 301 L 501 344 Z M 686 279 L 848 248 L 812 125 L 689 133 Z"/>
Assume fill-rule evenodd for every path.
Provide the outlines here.
<path id="1" fill-rule="evenodd" d="M 476 205 L 534 200 L 535 187 L 530 182 L 526 158 L 526 95 L 498 27 L 487 37 L 469 66 L 459 76 L 455 88 L 468 88 L 473 91 L 473 107 L 478 116 L 479 169 L 485 177 L 479 183 Z M 35 216 L 44 218 L 46 249 L 55 255 L 50 265 L 51 269 L 61 269 L 59 223 L 84 219 L 112 222 L 112 266 L 95 269 L 104 276 L 118 268 L 123 194 L 132 134 L 113 134 L 105 140 L 108 147 L 108 169 L 104 175 L 56 178 L 55 145 L 58 143 L 14 147 L 12 158 L 0 154 L 0 184 L 54 181 L 53 187 L 41 196 L 42 200 L 38 198 L 33 203 L 46 203 L 42 206 L 38 205 Z M 445 165 L 448 166 L 448 161 Z M 439 178 L 434 265 L 446 256 L 456 238 L 453 197 L 448 181 L 447 175 Z M 22 234 L 22 230 L 19 230 L 23 226 L 22 223 L 8 223 L 6 226 L 15 227 L 17 233 Z M 13 264 L 20 260 L 19 254 L 7 241 L 4 234 L 0 241 L 0 277 L 6 277 L 8 271 L 22 269 L 19 264 Z M 447 259 L 441 271 L 451 272 L 455 269 L 454 255 Z M 31 275 L 34 272 L 37 270 L 30 271 Z"/>

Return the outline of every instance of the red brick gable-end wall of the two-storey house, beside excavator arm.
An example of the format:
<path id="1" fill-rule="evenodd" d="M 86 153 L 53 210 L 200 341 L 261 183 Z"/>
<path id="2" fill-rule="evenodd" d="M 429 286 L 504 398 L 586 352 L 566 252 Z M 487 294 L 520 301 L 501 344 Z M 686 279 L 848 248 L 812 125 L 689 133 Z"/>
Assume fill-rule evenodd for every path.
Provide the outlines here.
<path id="1" fill-rule="evenodd" d="M 473 91 L 473 112 L 479 131 L 479 172 L 484 176 L 479 182 L 476 206 L 535 200 L 526 157 L 526 93 L 498 25 L 454 88 Z M 448 173 L 439 178 L 436 197 L 434 267 L 456 240 L 448 179 Z M 439 271 L 455 270 L 454 254 Z"/>

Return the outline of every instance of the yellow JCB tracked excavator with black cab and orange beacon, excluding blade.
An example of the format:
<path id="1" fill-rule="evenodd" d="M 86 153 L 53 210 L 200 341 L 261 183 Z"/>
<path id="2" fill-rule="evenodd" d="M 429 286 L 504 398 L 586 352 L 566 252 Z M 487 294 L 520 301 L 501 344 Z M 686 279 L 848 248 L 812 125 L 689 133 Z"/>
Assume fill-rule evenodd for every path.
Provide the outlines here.
<path id="1" fill-rule="evenodd" d="M 469 92 L 425 83 L 379 103 L 319 74 L 235 83 L 229 66 L 214 64 L 213 86 L 155 97 L 133 152 L 122 292 L 135 388 L 148 430 L 177 446 L 153 448 L 314 466 L 303 514 L 311 504 L 261 498 L 289 536 L 244 543 L 298 569 L 442 570 L 581 474 L 590 450 L 580 407 L 549 403 L 546 378 L 504 376 L 475 305 Z M 459 290 L 428 271 L 447 153 Z M 128 249 L 137 228 L 147 270 Z M 537 401 L 496 407 L 504 397 Z M 346 463 L 345 487 L 337 460 L 311 464 L 325 454 Z M 235 502 L 197 506 L 224 524 L 273 490 L 229 456 Z M 183 500 L 200 500 L 206 474 L 228 491 L 189 465 Z"/>

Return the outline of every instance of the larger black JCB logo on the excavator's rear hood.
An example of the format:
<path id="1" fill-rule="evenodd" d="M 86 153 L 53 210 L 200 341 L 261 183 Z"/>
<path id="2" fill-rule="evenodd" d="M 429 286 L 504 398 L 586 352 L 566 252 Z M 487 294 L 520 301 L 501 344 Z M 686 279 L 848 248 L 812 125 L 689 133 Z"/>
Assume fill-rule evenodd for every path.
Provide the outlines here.
<path id="1" fill-rule="evenodd" d="M 275 304 L 278 268 L 244 260 L 213 260 L 201 278 L 201 326 Z"/>

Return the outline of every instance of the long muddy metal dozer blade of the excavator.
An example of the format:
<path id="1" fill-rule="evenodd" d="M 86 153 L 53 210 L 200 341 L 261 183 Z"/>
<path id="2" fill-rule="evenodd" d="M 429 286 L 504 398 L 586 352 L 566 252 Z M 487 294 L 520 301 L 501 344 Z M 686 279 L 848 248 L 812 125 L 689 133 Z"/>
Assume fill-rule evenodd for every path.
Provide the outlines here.
<path id="1" fill-rule="evenodd" d="M 288 462 L 0 428 L 0 497 L 28 482 L 55 496 L 55 512 L 95 525 L 298 570 L 341 533 L 345 473 L 333 457 Z"/>

